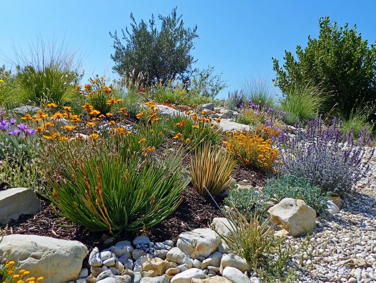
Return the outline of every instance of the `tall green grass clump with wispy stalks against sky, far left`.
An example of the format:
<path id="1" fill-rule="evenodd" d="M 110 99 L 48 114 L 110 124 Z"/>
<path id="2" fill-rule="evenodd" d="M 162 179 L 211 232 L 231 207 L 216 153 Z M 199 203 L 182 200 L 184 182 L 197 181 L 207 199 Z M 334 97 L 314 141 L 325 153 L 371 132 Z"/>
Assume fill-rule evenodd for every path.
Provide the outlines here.
<path id="1" fill-rule="evenodd" d="M 74 100 L 74 85 L 83 76 L 82 61 L 76 57 L 64 40 L 58 44 L 38 37 L 28 53 L 14 47 L 14 58 L 8 60 L 17 69 L 17 100 L 38 106 Z"/>

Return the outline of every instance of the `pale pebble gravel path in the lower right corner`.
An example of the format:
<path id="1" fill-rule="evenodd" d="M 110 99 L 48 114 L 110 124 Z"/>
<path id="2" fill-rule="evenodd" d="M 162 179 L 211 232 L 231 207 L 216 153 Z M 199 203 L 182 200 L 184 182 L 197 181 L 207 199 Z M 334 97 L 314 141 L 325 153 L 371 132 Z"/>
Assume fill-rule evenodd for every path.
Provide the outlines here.
<path id="1" fill-rule="evenodd" d="M 305 247 L 294 256 L 298 282 L 376 282 L 376 162 L 367 178 L 342 200 L 334 216 L 317 217 L 310 241 L 289 238 Z"/>

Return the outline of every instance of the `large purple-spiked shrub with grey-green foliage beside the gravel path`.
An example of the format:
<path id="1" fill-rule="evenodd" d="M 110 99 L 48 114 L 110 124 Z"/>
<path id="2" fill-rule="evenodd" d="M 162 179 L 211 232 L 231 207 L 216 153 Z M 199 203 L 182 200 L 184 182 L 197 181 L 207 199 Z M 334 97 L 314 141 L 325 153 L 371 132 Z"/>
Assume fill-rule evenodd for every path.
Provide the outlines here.
<path id="1" fill-rule="evenodd" d="M 343 123 L 334 118 L 331 125 L 325 126 L 320 118 L 309 121 L 304 132 L 298 130 L 288 141 L 285 132 L 277 139 L 279 147 L 279 174 L 306 177 L 312 186 L 323 192 L 340 194 L 351 188 L 369 170 L 373 149 L 367 129 L 359 130 L 359 138 L 354 139 L 353 130 L 346 132 Z"/>

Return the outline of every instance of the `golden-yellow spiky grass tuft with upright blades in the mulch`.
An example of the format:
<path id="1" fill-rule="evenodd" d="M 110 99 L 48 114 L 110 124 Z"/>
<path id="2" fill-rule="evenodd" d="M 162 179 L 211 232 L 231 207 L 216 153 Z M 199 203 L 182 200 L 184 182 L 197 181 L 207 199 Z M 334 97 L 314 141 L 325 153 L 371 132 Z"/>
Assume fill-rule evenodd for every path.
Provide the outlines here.
<path id="1" fill-rule="evenodd" d="M 236 161 L 225 150 L 206 142 L 190 160 L 193 188 L 202 196 L 208 194 L 206 189 L 212 196 L 219 195 L 229 185 L 235 165 Z"/>

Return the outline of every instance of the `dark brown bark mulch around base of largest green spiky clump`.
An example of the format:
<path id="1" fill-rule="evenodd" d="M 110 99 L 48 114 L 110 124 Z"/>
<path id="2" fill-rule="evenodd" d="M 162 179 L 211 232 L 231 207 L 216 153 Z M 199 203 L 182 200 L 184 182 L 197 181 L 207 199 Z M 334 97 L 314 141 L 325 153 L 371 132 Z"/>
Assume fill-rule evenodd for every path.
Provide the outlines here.
<path id="1" fill-rule="evenodd" d="M 183 191 L 180 206 L 164 221 L 138 234 L 121 235 L 121 239 L 132 240 L 135 236 L 146 235 L 152 241 L 177 240 L 180 233 L 196 228 L 208 227 L 214 217 L 221 217 L 221 212 L 212 200 L 198 195 L 193 188 Z M 89 249 L 105 248 L 103 241 L 108 236 L 93 232 L 57 215 L 50 208 L 50 202 L 41 198 L 42 209 L 37 215 L 23 215 L 17 221 L 8 224 L 7 235 L 25 234 L 49 236 L 52 238 L 77 240 Z M 221 205 L 221 203 L 219 203 Z M 62 227 L 61 225 L 70 226 Z M 4 227 L 3 227 L 4 228 Z"/>

